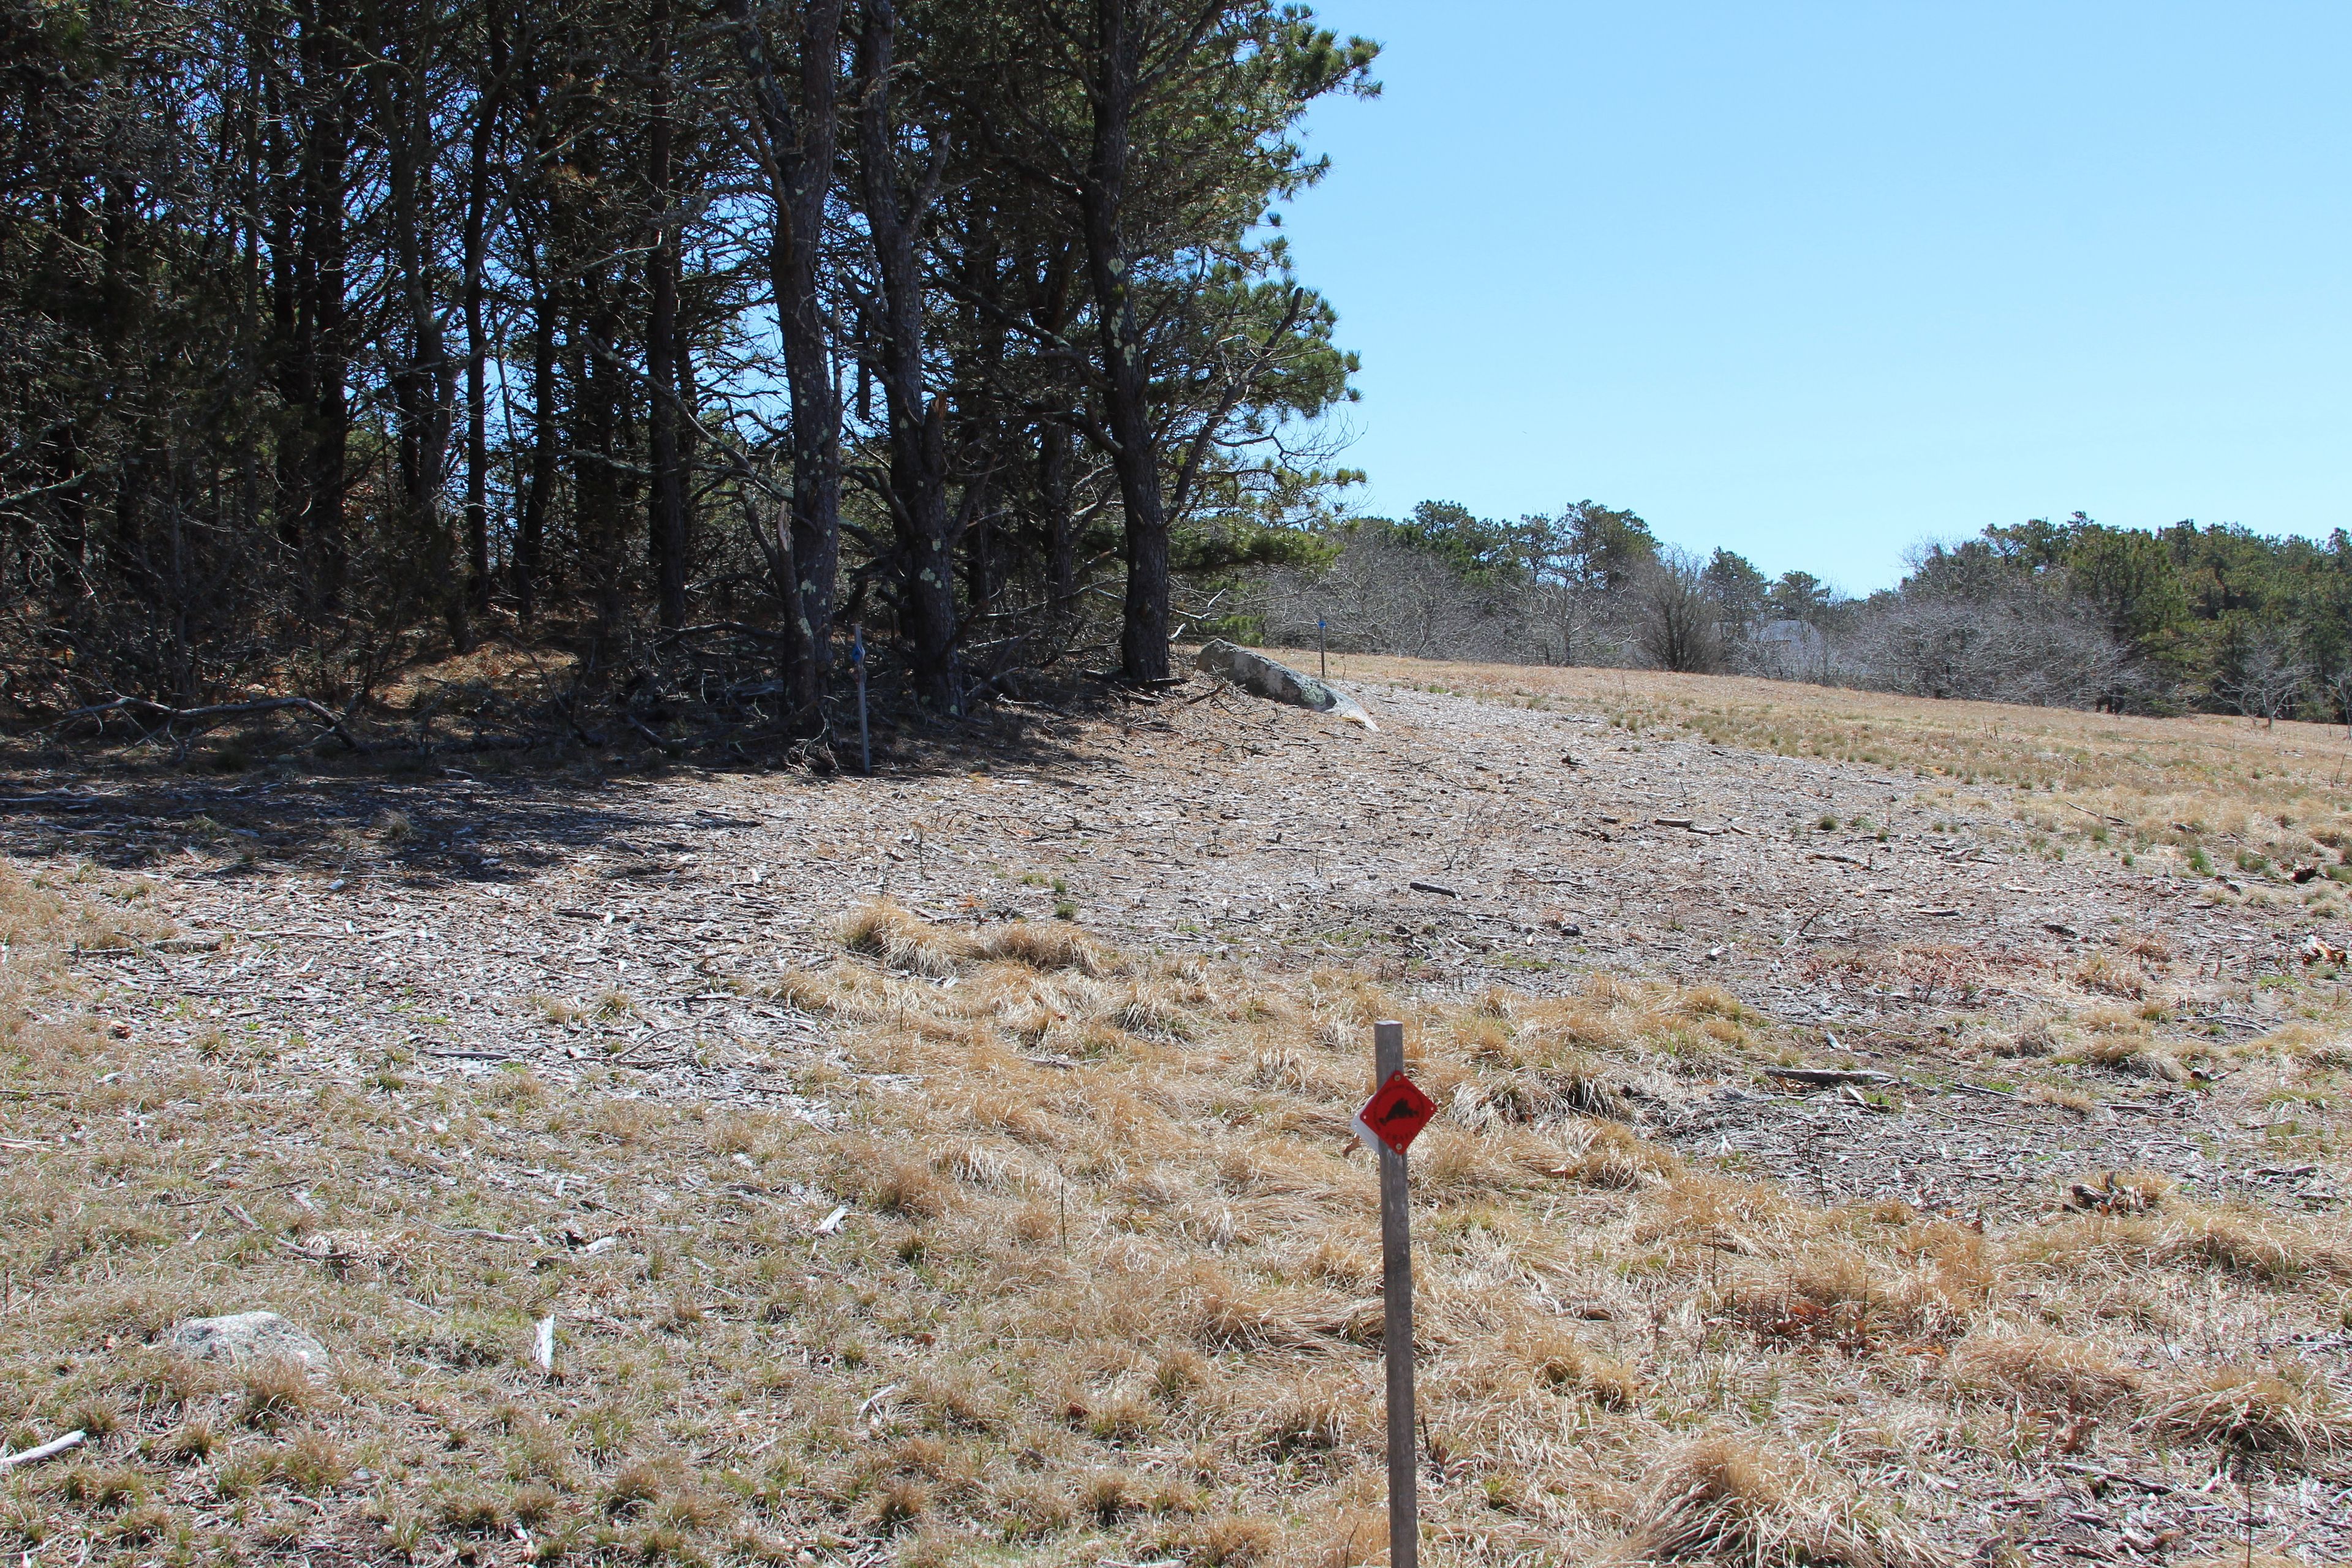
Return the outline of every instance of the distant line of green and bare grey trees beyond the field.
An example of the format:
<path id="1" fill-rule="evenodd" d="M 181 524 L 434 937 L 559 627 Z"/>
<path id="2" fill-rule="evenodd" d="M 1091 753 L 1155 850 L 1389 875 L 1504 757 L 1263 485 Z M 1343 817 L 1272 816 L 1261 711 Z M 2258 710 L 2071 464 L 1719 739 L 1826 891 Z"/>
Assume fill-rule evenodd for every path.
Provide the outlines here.
<path id="1" fill-rule="evenodd" d="M 2074 512 L 1929 543 L 1896 588 L 1661 543 L 1581 501 L 1498 522 L 1449 501 L 1329 524 L 1256 574 L 1232 630 L 1336 649 L 1738 670 L 2129 712 L 2352 722 L 2352 536 L 2114 529 Z"/>

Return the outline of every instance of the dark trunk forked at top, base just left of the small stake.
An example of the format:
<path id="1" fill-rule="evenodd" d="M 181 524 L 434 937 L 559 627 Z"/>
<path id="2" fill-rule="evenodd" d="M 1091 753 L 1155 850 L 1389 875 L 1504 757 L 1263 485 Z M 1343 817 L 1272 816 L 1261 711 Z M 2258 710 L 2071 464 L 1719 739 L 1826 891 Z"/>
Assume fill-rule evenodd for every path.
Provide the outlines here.
<path id="1" fill-rule="evenodd" d="M 795 592 L 786 607 L 786 703 L 804 733 L 823 729 L 833 677 L 833 597 L 842 555 L 842 400 L 833 381 L 833 343 L 818 296 L 826 195 L 840 134 L 842 0 L 800 5 L 800 101 L 786 92 L 774 52 L 750 0 L 727 0 L 764 141 L 774 230 L 769 277 L 783 339 L 783 374 L 793 397 Z"/>

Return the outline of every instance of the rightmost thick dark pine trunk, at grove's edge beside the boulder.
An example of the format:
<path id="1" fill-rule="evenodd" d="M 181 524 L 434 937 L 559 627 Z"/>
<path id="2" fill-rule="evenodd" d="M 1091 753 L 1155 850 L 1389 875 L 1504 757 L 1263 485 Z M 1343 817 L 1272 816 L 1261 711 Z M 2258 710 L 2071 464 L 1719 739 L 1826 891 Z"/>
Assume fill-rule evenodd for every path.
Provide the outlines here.
<path id="1" fill-rule="evenodd" d="M 1136 38 L 1129 0 L 1096 0 L 1094 148 L 1080 186 L 1087 280 L 1103 343 L 1103 425 L 1127 512 L 1127 604 L 1120 672 L 1131 682 L 1169 675 L 1169 524 L 1160 498 L 1160 440 L 1150 423 L 1150 364 L 1129 296 L 1122 237 L 1127 139 L 1136 103 Z"/>

